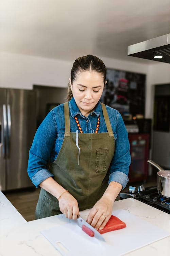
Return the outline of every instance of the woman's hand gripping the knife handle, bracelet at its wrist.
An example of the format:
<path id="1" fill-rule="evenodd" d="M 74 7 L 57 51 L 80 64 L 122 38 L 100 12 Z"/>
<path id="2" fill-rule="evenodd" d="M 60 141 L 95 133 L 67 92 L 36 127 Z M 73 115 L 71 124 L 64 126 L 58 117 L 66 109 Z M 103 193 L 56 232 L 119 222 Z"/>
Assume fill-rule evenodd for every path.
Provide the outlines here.
<path id="1" fill-rule="evenodd" d="M 59 199 L 60 211 L 69 219 L 77 219 L 79 206 L 77 200 L 68 192 Z"/>

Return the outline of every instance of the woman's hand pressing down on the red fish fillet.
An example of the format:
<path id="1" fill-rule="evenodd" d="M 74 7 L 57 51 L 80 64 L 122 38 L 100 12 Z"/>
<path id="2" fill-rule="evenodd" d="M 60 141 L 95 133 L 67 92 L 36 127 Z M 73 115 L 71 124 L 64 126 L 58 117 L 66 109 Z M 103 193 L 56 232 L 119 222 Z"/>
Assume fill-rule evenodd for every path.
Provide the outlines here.
<path id="1" fill-rule="evenodd" d="M 113 200 L 103 196 L 95 203 L 86 221 L 97 230 L 103 229 L 112 215 L 113 203 Z"/>

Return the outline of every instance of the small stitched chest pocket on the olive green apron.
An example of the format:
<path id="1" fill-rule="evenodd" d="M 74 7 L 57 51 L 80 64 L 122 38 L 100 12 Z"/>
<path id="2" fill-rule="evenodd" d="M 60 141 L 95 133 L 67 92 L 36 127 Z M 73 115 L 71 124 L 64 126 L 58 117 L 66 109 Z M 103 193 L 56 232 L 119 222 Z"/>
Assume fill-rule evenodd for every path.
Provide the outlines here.
<path id="1" fill-rule="evenodd" d="M 96 150 L 96 172 L 104 172 L 107 166 L 108 147 Z"/>

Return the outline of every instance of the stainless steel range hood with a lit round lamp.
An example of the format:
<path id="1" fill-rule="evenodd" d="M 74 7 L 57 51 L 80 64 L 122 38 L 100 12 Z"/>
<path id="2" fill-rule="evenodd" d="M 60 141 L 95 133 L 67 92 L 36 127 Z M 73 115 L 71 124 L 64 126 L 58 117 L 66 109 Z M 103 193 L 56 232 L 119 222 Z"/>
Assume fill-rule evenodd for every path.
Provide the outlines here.
<path id="1" fill-rule="evenodd" d="M 128 55 L 170 63 L 170 34 L 128 46 Z M 162 56 L 154 58 L 154 56 Z"/>

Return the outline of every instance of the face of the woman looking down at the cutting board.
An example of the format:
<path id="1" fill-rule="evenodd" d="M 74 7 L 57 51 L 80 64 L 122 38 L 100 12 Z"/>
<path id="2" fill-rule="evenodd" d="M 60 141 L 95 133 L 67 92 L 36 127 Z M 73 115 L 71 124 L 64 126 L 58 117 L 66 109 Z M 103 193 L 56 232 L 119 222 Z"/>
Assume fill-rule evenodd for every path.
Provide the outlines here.
<path id="1" fill-rule="evenodd" d="M 72 84 L 70 81 L 70 85 L 74 100 L 82 115 L 88 116 L 102 95 L 103 76 L 96 71 L 83 71 Z"/>

